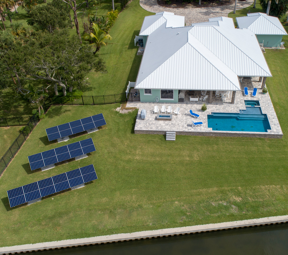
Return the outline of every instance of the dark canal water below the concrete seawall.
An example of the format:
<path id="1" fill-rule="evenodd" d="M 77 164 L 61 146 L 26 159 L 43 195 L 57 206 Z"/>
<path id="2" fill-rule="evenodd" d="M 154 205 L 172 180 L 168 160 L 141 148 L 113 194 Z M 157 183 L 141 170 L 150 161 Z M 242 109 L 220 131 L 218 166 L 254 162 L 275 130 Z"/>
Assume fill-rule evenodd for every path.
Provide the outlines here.
<path id="1" fill-rule="evenodd" d="M 37 255 L 58 254 L 282 255 L 288 254 L 288 223 L 37 252 Z"/>

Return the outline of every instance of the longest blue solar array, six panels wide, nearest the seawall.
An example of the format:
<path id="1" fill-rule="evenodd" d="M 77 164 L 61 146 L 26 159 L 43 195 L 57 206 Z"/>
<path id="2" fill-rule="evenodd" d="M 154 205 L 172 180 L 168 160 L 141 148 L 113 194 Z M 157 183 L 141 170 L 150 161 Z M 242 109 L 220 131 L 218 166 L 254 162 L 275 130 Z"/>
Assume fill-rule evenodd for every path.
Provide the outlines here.
<path id="1" fill-rule="evenodd" d="M 58 174 L 44 180 L 33 182 L 15 189 L 10 189 L 7 191 L 10 207 L 45 197 L 96 179 L 97 175 L 94 166 L 86 165 L 64 174 Z"/>

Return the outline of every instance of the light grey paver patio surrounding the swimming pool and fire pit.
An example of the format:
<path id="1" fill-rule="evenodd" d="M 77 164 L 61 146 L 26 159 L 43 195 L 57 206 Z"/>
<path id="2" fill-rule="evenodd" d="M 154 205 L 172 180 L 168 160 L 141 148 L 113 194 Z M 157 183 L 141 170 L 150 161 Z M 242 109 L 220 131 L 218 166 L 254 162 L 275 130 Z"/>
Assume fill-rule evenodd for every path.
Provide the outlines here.
<path id="1" fill-rule="evenodd" d="M 261 90 L 262 83 L 259 82 L 259 77 L 252 77 L 251 80 L 244 80 L 240 83 L 242 90 L 244 87 L 248 87 L 249 96 L 243 96 L 242 91 L 236 92 L 235 102 L 231 104 L 229 99 L 226 102 L 222 102 L 221 98 L 215 98 L 215 93 L 213 94 L 213 102 L 209 103 L 206 100 L 207 110 L 202 111 L 201 106 L 203 102 L 189 102 L 189 103 L 146 103 L 146 102 L 127 102 L 127 107 L 137 107 L 139 108 L 137 120 L 135 123 L 134 131 L 136 134 L 165 134 L 166 131 L 176 131 L 176 134 L 187 134 L 187 135 L 212 135 L 212 136 L 249 136 L 249 137 L 267 137 L 267 138 L 282 138 L 282 130 L 274 111 L 273 104 L 271 102 L 269 93 L 263 94 Z M 258 92 L 256 98 L 251 97 L 253 87 L 257 87 Z M 207 93 L 209 94 L 209 93 Z M 232 92 L 230 93 L 230 97 Z M 237 113 L 239 108 L 245 110 L 244 100 L 259 100 L 259 104 L 263 114 L 267 114 L 271 130 L 268 132 L 238 132 L 238 131 L 220 131 L 212 130 L 208 127 L 207 115 L 212 112 L 217 113 Z M 157 120 L 157 114 L 154 114 L 154 106 L 157 105 L 161 109 L 162 105 L 172 106 L 172 110 L 176 110 L 177 107 L 180 108 L 179 116 L 173 115 L 172 121 L 159 121 Z M 237 109 L 237 107 L 239 107 Z M 145 109 L 147 112 L 145 120 L 141 119 L 141 109 Z M 192 109 L 194 113 L 200 115 L 196 120 L 189 116 L 189 110 Z M 202 127 L 192 127 L 192 121 L 202 121 L 204 125 Z"/>

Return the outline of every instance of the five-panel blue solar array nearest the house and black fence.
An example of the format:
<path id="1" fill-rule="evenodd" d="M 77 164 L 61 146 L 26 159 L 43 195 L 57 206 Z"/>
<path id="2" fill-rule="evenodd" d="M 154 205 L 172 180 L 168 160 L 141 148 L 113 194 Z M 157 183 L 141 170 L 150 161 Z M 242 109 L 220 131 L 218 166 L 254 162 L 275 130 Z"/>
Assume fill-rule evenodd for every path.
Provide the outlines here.
<path id="1" fill-rule="evenodd" d="M 95 127 L 106 125 L 103 114 L 93 115 L 84 119 L 78 119 L 55 127 L 46 128 L 49 141 L 77 134 Z"/>

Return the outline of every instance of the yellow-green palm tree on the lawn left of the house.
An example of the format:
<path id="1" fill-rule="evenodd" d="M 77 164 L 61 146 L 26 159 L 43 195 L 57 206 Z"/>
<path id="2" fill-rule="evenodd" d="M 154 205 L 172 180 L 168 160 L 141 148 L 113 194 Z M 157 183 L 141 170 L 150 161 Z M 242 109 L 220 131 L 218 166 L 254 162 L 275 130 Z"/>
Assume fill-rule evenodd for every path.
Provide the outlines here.
<path id="1" fill-rule="evenodd" d="M 101 46 L 107 46 L 109 43 L 105 43 L 105 40 L 111 40 L 112 37 L 105 33 L 102 29 L 99 28 L 98 24 L 92 23 L 92 32 L 90 34 L 84 33 L 83 39 L 86 43 L 92 45 L 96 50 L 93 52 L 95 54 L 101 48 Z"/>

